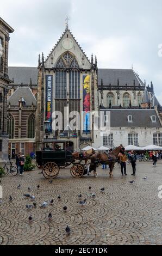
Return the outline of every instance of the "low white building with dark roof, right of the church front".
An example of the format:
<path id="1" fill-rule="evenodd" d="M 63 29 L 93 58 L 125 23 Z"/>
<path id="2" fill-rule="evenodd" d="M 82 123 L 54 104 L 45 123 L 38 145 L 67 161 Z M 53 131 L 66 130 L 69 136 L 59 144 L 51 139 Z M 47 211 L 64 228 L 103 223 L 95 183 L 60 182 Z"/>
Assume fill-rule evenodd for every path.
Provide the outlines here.
<path id="1" fill-rule="evenodd" d="M 110 132 L 94 131 L 94 148 L 102 145 L 114 148 L 123 144 L 145 147 L 162 146 L 162 121 L 156 109 L 100 109 L 110 113 Z"/>

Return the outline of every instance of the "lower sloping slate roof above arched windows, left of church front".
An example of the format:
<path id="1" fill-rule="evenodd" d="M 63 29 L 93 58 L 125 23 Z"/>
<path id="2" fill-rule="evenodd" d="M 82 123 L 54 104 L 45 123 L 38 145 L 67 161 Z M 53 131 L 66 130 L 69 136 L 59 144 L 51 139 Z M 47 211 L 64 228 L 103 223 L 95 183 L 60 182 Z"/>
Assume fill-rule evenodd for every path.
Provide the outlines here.
<path id="1" fill-rule="evenodd" d="M 10 103 L 11 106 L 18 106 L 18 101 L 20 97 L 23 97 L 24 101 L 26 101 L 26 106 L 32 106 L 32 102 L 34 106 L 36 106 L 36 99 L 32 90 L 29 87 L 18 87 L 15 92 L 9 97 L 8 105 Z"/>

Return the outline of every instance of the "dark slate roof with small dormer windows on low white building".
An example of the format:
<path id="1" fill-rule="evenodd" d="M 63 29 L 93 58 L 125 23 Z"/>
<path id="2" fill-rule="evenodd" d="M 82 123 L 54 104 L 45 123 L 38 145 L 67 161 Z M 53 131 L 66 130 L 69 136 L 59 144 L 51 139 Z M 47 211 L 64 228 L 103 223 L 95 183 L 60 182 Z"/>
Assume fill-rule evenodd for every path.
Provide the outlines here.
<path id="1" fill-rule="evenodd" d="M 100 109 L 110 111 L 111 127 L 161 127 L 154 109 Z M 128 115 L 132 115 L 132 123 L 128 122 Z M 151 116 L 156 116 L 156 123 L 152 123 Z"/>

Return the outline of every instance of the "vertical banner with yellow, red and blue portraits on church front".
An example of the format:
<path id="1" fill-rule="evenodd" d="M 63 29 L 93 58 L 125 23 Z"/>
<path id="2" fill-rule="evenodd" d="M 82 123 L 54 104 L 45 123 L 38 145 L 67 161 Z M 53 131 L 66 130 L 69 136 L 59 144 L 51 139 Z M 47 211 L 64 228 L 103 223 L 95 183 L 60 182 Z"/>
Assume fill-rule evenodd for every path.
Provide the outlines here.
<path id="1" fill-rule="evenodd" d="M 90 75 L 83 75 L 83 132 L 90 132 Z"/>

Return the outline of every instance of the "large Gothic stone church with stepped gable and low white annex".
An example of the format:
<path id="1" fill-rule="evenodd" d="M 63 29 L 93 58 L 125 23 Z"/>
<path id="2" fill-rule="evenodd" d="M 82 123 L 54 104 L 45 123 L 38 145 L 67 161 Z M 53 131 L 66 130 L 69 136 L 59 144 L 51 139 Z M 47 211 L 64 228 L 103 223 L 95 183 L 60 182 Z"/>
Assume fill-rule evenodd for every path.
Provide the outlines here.
<path id="1" fill-rule="evenodd" d="M 28 107 L 35 114 L 33 150 L 39 148 L 43 139 L 66 139 L 72 151 L 86 145 L 162 145 L 161 106 L 153 83 L 142 82 L 133 68 L 99 69 L 97 57 L 86 56 L 67 25 L 47 58 L 43 53 L 39 55 L 38 68 L 9 67 L 9 76 L 13 82 L 9 86 L 8 111 L 14 119 L 12 95 L 19 92 L 21 101 L 24 98 L 27 102 L 27 95 L 20 95 L 20 88 L 28 87 L 33 95 L 30 97 L 36 100 Z M 17 106 L 17 117 L 20 99 L 12 100 Z M 15 105 L 12 111 L 14 108 Z M 105 116 L 107 111 L 111 115 L 111 131 L 101 137 L 94 129 L 95 113 L 103 112 Z M 45 130 L 47 122 L 49 127 Z M 13 139 L 21 139 L 22 133 L 17 134 Z M 26 147 L 24 144 L 24 154 Z"/>

